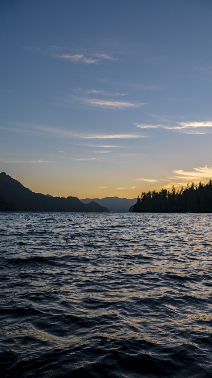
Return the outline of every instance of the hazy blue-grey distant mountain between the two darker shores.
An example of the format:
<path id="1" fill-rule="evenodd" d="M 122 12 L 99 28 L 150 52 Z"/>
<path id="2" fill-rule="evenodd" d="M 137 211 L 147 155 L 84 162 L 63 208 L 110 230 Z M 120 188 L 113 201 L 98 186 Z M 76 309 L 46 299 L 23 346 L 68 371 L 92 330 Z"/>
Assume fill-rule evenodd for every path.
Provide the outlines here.
<path id="1" fill-rule="evenodd" d="M 119 198 L 119 197 L 104 197 L 104 198 L 84 198 L 83 203 L 95 201 L 101 206 L 107 207 L 111 212 L 128 212 L 129 208 L 134 205 L 137 198 Z"/>

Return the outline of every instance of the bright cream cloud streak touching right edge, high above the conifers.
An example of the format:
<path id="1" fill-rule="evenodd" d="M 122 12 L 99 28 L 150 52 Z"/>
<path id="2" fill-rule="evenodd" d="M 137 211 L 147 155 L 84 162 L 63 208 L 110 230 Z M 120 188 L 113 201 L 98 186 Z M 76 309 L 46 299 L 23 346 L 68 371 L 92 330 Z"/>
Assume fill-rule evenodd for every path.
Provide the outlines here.
<path id="1" fill-rule="evenodd" d="M 186 134 L 206 134 L 208 133 L 207 130 L 198 130 L 200 128 L 212 128 L 212 122 L 177 122 L 177 125 L 163 125 L 163 124 L 157 124 L 157 125 L 150 125 L 150 124 L 137 124 L 134 123 L 136 127 L 139 127 L 140 129 L 158 129 L 163 128 L 167 130 L 178 130 L 180 132 L 186 133 Z M 212 129 L 209 130 L 209 132 L 212 132 Z"/>

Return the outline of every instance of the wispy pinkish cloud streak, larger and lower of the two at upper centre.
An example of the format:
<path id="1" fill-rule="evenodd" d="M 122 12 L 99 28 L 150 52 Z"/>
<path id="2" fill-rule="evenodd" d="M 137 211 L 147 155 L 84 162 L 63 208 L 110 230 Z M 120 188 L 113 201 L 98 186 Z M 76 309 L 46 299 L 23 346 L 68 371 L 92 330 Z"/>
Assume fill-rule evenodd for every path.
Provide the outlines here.
<path id="1" fill-rule="evenodd" d="M 73 97 L 75 100 L 81 102 L 82 104 L 87 104 L 90 106 L 97 106 L 101 108 L 110 108 L 110 109 L 125 109 L 125 108 L 139 108 L 140 106 L 146 105 L 146 102 L 143 103 L 133 103 L 128 101 L 107 101 L 97 98 L 79 98 Z M 67 102 L 70 102 L 67 101 Z"/>

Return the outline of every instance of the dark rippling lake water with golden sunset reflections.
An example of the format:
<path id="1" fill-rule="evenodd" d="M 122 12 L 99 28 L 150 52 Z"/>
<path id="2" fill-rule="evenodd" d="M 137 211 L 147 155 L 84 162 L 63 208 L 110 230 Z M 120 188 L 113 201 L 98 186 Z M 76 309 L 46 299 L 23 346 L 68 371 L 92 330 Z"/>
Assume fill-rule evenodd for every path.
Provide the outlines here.
<path id="1" fill-rule="evenodd" d="M 1 213 L 1 377 L 212 377 L 212 214 Z"/>

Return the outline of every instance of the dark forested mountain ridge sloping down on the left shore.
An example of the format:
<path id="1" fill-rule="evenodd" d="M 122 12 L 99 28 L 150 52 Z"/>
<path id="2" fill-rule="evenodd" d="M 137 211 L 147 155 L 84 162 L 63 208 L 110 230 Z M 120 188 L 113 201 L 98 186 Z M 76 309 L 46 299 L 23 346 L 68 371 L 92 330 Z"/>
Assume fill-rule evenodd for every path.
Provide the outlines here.
<path id="1" fill-rule="evenodd" d="M 50 197 L 32 192 L 5 172 L 0 173 L 0 211 L 110 212 L 93 201 L 84 204 L 77 197 Z"/>

